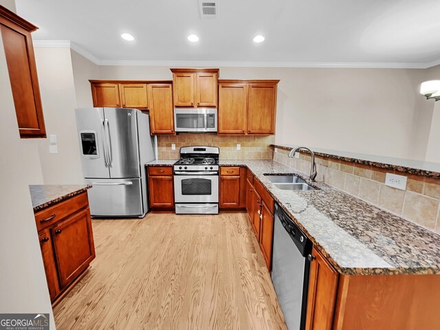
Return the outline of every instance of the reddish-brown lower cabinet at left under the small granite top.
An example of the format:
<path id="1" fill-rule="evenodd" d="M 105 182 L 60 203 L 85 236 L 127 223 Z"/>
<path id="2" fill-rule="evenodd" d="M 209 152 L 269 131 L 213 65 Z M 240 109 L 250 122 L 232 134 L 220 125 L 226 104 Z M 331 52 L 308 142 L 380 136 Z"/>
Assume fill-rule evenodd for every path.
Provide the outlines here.
<path id="1" fill-rule="evenodd" d="M 60 300 L 95 258 L 87 192 L 35 214 L 52 303 Z"/>

